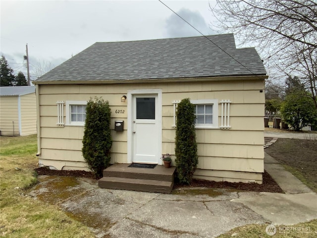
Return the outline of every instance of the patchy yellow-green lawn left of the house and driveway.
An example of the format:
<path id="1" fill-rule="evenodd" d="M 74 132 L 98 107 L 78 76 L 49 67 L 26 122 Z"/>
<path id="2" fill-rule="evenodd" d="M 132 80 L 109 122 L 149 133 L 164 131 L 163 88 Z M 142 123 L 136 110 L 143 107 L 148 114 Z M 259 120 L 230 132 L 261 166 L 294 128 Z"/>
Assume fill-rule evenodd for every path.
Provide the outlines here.
<path id="1" fill-rule="evenodd" d="M 36 152 L 36 135 L 0 137 L 0 237 L 95 237 L 57 206 L 23 195 L 37 183 Z"/>

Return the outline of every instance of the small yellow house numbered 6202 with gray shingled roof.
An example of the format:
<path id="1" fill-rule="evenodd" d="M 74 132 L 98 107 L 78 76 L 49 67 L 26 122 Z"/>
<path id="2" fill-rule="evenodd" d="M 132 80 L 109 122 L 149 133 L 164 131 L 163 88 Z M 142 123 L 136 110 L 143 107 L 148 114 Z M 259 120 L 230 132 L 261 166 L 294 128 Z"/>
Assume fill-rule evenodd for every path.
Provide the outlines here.
<path id="1" fill-rule="evenodd" d="M 190 98 L 195 178 L 262 183 L 263 62 L 254 48 L 236 49 L 233 34 L 208 38 L 95 43 L 33 82 L 40 166 L 88 170 L 85 105 L 95 96 L 111 107 L 111 163 L 161 164 L 161 154 L 174 157 L 177 103 Z"/>

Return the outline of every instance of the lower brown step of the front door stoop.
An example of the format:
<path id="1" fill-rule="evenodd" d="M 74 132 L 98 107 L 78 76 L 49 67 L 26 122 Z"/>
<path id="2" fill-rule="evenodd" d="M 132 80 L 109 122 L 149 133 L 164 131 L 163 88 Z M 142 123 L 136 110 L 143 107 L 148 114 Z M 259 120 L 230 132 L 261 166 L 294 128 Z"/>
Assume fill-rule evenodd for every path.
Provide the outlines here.
<path id="1" fill-rule="evenodd" d="M 98 180 L 98 185 L 101 188 L 170 193 L 173 188 L 174 181 L 103 177 Z"/>

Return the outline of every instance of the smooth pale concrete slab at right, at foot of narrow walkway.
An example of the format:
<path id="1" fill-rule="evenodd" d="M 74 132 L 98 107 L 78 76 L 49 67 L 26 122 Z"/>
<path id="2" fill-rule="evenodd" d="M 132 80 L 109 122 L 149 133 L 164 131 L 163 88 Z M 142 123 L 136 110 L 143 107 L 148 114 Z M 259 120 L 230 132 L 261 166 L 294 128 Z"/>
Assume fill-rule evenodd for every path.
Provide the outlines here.
<path id="1" fill-rule="evenodd" d="M 273 225 L 292 225 L 317 219 L 317 194 L 239 193 L 233 202 L 243 203 Z M 305 202 L 304 202 L 305 201 Z"/>

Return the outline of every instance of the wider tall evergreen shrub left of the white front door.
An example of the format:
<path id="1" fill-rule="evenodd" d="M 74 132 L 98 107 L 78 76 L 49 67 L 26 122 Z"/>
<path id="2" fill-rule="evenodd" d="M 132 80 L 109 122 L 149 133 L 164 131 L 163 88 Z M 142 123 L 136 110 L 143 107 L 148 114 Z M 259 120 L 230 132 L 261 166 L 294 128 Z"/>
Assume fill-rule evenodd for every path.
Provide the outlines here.
<path id="1" fill-rule="evenodd" d="M 96 178 L 103 177 L 111 158 L 110 116 L 108 101 L 95 97 L 87 103 L 82 152 Z"/>

